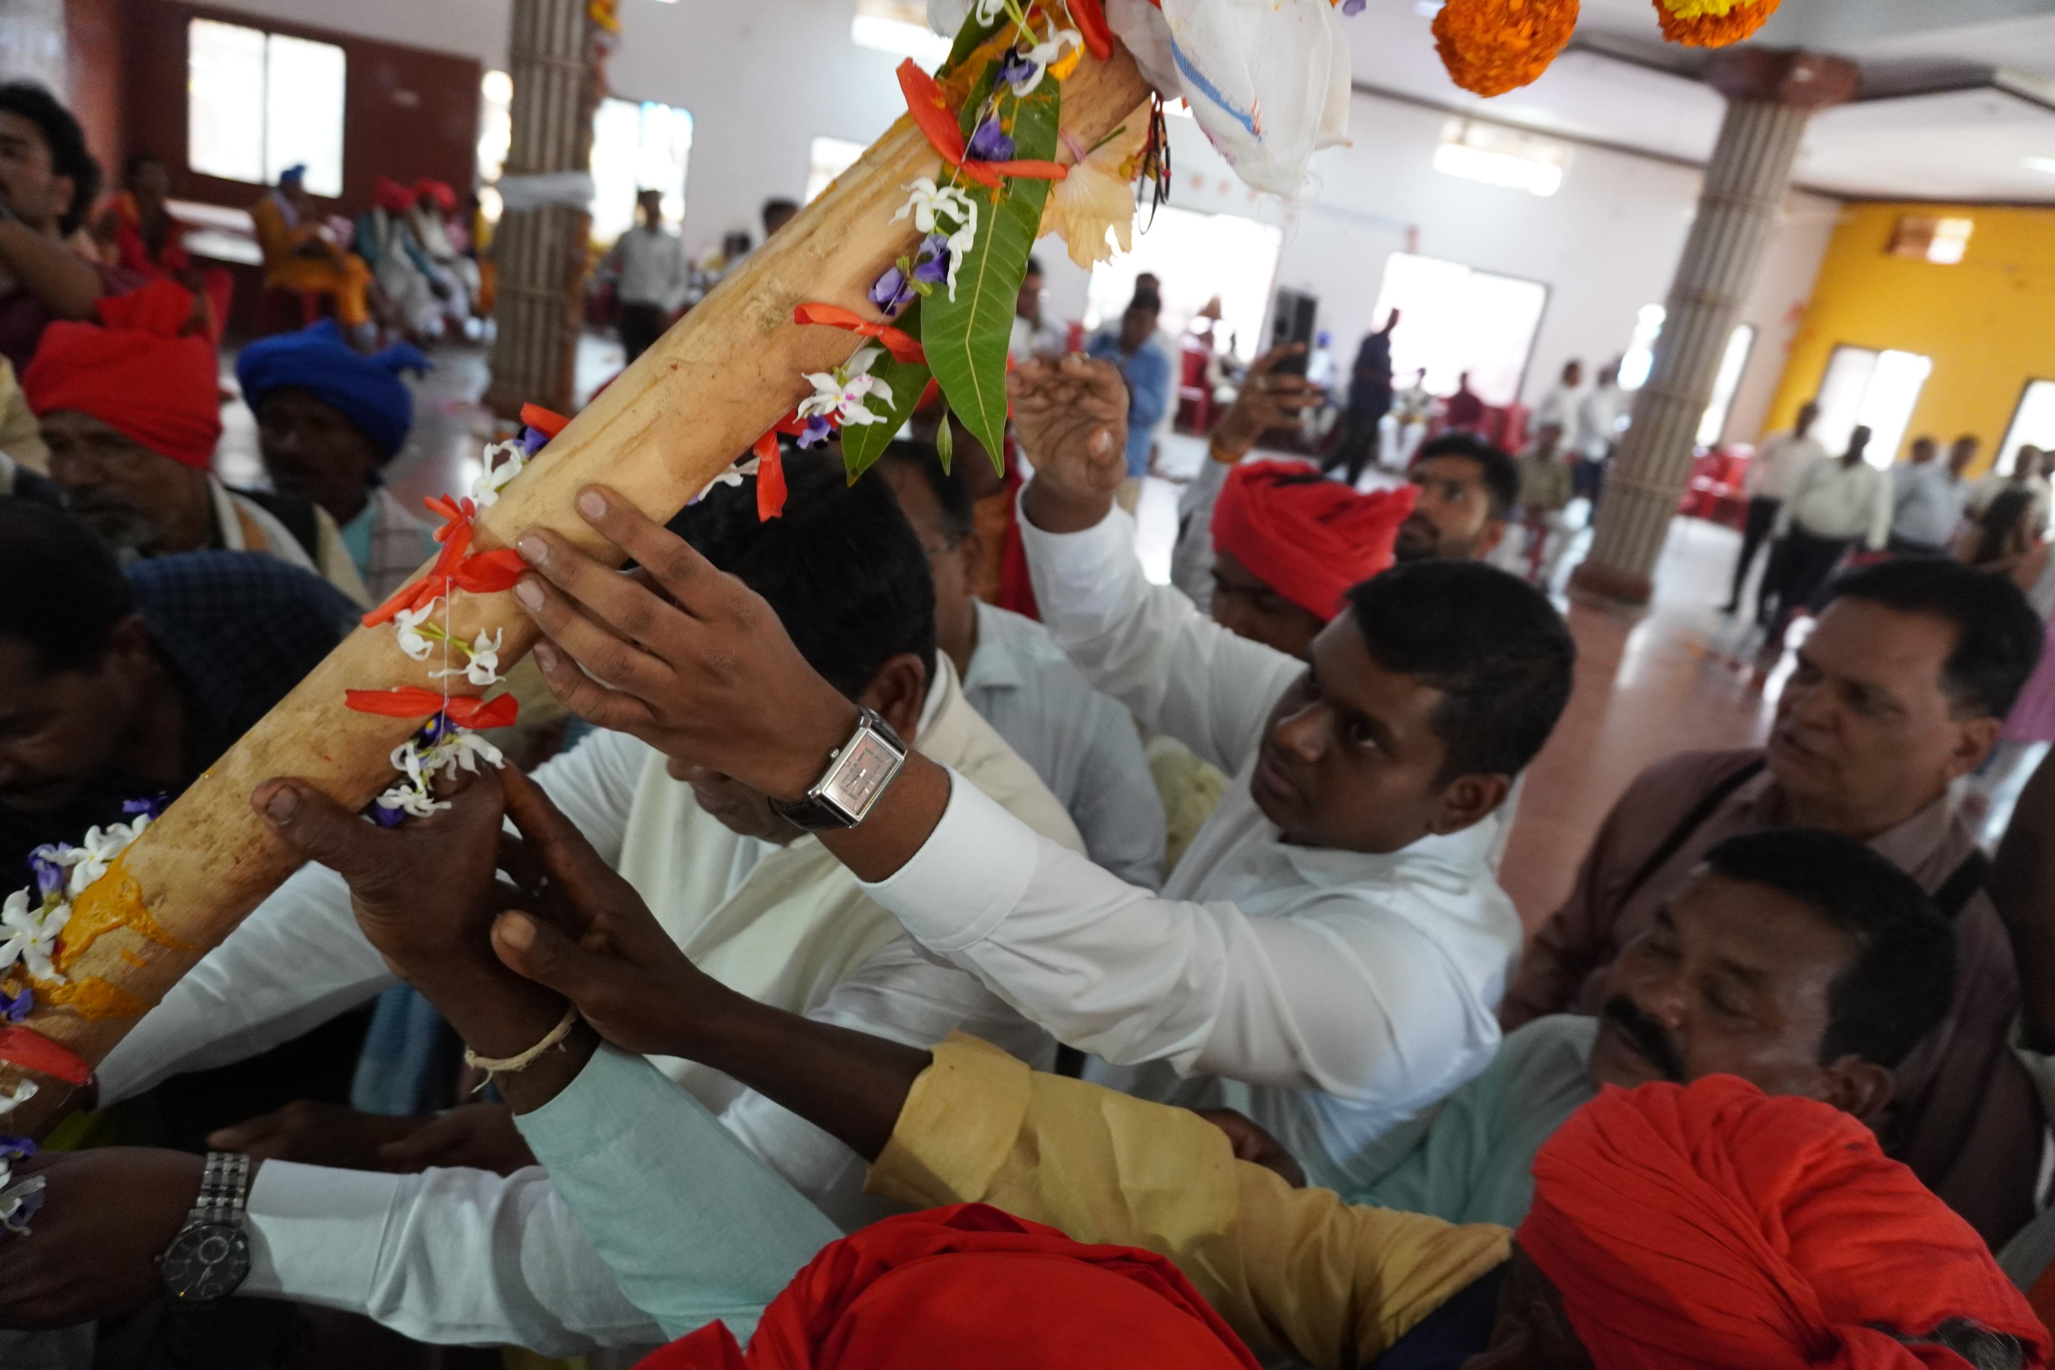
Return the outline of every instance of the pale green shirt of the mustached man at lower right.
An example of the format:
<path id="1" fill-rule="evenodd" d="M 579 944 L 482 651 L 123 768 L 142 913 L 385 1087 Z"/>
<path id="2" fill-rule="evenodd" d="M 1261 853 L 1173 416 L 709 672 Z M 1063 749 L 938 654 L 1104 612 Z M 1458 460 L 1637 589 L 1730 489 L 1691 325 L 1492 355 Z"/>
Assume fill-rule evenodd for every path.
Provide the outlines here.
<path id="1" fill-rule="evenodd" d="M 1385 1169 L 1342 1197 L 1519 1226 L 1535 1193 L 1535 1152 L 1599 1093 L 1586 1068 L 1597 1037 L 1597 1019 L 1570 1013 L 1508 1033 L 1484 1074 L 1379 1138 L 1373 1152 Z"/>

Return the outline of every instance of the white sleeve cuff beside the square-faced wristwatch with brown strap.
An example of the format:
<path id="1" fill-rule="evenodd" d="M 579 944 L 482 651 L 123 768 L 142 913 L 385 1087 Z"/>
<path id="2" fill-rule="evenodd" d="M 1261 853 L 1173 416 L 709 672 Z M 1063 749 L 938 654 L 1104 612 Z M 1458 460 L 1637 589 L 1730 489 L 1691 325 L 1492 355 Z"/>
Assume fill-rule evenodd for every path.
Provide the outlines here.
<path id="1" fill-rule="evenodd" d="M 875 885 L 863 883 L 863 891 L 923 947 L 949 955 L 991 937 L 1013 912 L 1034 879 L 1042 842 L 997 799 L 949 770 L 949 807 L 935 832 L 906 865 Z"/>

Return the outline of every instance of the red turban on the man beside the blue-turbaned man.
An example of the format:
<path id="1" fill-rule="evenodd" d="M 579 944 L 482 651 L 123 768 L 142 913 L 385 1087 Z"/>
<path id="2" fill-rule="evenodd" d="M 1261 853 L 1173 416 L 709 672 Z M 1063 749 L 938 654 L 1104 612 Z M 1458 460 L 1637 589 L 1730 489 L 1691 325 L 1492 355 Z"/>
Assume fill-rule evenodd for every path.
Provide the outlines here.
<path id="1" fill-rule="evenodd" d="M 193 294 L 152 281 L 99 302 L 101 325 L 43 329 L 21 388 L 39 417 L 92 415 L 158 456 L 208 470 L 222 437 L 220 361 L 214 343 L 187 333 Z"/>

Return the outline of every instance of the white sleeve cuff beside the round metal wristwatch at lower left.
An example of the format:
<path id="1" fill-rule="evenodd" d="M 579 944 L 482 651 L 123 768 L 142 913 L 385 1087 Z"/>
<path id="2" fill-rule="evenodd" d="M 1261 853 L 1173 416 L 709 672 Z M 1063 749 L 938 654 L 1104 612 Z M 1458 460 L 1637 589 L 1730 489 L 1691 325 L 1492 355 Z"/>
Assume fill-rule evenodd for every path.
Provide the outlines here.
<path id="1" fill-rule="evenodd" d="M 417 1175 L 265 1160 L 249 1197 L 251 1273 L 242 1294 L 364 1312 L 384 1230 Z"/>

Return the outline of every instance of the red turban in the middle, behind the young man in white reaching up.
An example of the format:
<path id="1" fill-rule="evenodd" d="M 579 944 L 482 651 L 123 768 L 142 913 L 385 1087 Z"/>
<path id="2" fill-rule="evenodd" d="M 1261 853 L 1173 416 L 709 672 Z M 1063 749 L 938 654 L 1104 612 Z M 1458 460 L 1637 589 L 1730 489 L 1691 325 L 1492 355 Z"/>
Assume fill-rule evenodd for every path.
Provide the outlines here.
<path id="1" fill-rule="evenodd" d="M 1212 507 L 1212 546 L 1321 622 L 1391 565 L 1414 487 L 1358 495 L 1305 462 L 1243 462 Z"/>

